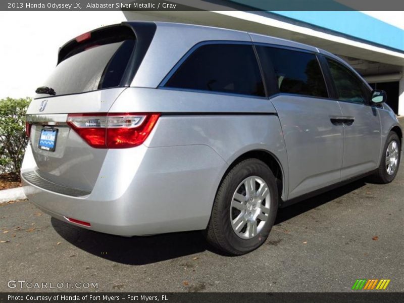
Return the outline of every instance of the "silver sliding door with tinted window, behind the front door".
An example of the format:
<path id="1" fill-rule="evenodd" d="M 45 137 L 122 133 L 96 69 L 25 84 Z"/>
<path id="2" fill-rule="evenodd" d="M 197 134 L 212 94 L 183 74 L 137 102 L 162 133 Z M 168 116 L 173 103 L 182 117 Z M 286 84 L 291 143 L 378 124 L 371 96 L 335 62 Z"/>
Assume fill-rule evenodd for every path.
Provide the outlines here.
<path id="1" fill-rule="evenodd" d="M 329 99 L 316 54 L 256 45 L 282 125 L 289 162 L 289 196 L 340 180 L 343 126 L 339 103 Z"/>

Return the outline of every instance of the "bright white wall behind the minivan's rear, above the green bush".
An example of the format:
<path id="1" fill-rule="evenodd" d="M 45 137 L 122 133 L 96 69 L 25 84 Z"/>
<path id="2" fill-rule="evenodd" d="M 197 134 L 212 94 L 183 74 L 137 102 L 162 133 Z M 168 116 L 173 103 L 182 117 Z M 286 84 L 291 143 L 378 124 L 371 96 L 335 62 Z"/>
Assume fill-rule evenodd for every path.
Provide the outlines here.
<path id="1" fill-rule="evenodd" d="M 0 99 L 32 96 L 57 63 L 59 47 L 122 12 L 0 12 Z"/>

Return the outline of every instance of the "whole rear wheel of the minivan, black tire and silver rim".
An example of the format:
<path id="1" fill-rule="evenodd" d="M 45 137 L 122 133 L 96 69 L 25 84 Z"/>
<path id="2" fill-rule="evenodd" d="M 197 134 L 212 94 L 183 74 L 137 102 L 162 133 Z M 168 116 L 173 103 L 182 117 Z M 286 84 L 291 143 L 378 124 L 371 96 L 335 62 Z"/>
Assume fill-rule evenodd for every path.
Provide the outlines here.
<path id="1" fill-rule="evenodd" d="M 270 168 L 258 159 L 244 160 L 219 186 L 207 240 L 227 254 L 245 254 L 265 242 L 277 210 L 278 190 Z"/>

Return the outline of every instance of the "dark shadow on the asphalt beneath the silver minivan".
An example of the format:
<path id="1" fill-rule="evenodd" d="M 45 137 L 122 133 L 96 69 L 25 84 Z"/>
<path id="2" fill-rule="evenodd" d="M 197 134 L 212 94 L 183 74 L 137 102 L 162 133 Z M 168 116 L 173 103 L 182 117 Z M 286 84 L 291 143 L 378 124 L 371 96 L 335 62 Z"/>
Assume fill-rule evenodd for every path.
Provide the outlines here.
<path id="1" fill-rule="evenodd" d="M 359 180 L 279 209 L 275 225 L 328 203 L 365 184 L 364 180 Z M 92 255 L 122 264 L 144 265 L 156 263 L 205 250 L 222 255 L 206 243 L 200 231 L 126 238 L 93 232 L 55 218 L 52 218 L 51 222 L 56 232 L 76 247 Z"/>

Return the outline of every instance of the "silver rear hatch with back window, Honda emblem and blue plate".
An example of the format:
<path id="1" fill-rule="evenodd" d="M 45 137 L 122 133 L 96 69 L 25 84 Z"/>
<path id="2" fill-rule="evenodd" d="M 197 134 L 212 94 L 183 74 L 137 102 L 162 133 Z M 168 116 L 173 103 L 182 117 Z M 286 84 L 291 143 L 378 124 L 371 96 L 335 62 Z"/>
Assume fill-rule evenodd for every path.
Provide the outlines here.
<path id="1" fill-rule="evenodd" d="M 27 110 L 36 175 L 65 187 L 92 190 L 108 149 L 84 139 L 68 120 L 86 117 L 87 131 L 103 123 L 102 116 L 129 85 L 139 56 L 144 56 L 144 49 L 136 49 L 138 42 L 135 28 L 123 23 L 85 33 L 60 48 L 58 65 Z"/>

